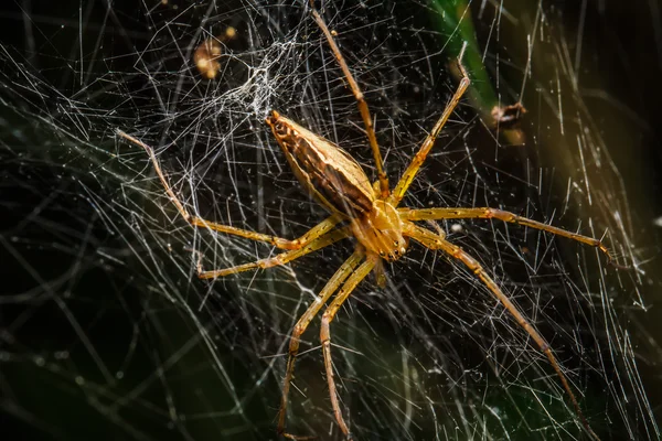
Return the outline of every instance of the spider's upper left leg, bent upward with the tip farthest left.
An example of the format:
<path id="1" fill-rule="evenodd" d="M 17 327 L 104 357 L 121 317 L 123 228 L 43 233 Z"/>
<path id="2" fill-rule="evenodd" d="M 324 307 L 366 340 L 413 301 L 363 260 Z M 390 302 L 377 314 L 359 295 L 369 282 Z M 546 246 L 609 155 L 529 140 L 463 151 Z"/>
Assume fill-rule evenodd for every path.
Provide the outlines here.
<path id="1" fill-rule="evenodd" d="M 184 207 L 184 204 L 182 204 L 180 202 L 180 200 L 177 197 L 177 195 L 172 191 L 172 187 L 170 186 L 170 184 L 168 184 L 168 180 L 166 179 L 166 175 L 163 174 L 163 171 L 161 170 L 161 165 L 159 164 L 159 160 L 157 159 L 157 155 L 154 154 L 154 150 L 151 147 L 149 147 L 148 144 L 146 144 L 145 142 L 140 141 L 139 139 L 137 139 L 130 135 L 125 133 L 121 130 L 118 130 L 117 135 L 134 142 L 135 144 L 142 147 L 147 151 L 147 153 L 149 154 L 149 158 L 151 159 L 151 161 L 154 165 L 154 170 L 157 171 L 157 174 L 159 175 L 159 179 L 161 180 L 161 183 L 163 184 L 163 189 L 166 189 L 166 193 L 168 193 L 168 196 L 170 196 L 170 200 L 177 207 L 178 212 L 180 212 L 182 217 L 193 226 L 210 228 L 210 229 L 213 229 L 214 232 L 239 236 L 239 237 L 244 237 L 246 239 L 252 239 L 252 240 L 257 240 L 257 241 L 266 241 L 267 244 L 271 244 L 275 247 L 281 248 L 281 249 L 299 249 L 299 248 L 303 247 L 306 244 L 309 244 L 310 241 L 317 239 L 318 237 L 320 237 L 323 234 L 325 234 L 327 232 L 329 232 L 342 219 L 340 216 L 337 216 L 337 215 L 330 216 L 327 219 L 322 220 L 320 224 L 318 224 L 314 227 L 312 227 L 311 229 L 309 229 L 301 237 L 290 240 L 290 239 L 284 239 L 281 237 L 277 237 L 277 236 L 249 232 L 247 229 L 235 228 L 229 225 L 217 224 L 215 222 L 205 220 L 201 217 L 193 216 L 186 211 L 186 208 Z"/>

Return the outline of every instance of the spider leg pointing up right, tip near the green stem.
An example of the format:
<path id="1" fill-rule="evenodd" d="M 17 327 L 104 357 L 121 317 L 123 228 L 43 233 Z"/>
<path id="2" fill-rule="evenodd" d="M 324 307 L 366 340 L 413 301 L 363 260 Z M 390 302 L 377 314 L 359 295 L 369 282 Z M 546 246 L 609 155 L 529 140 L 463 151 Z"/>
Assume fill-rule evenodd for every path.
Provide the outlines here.
<path id="1" fill-rule="evenodd" d="M 439 118 L 437 123 L 435 123 L 435 127 L 433 127 L 433 131 L 430 131 L 430 133 L 427 136 L 425 141 L 423 141 L 423 144 L 420 146 L 420 150 L 418 150 L 418 152 L 416 153 L 416 155 L 414 157 L 412 162 L 409 162 L 409 166 L 407 166 L 407 170 L 405 170 L 405 173 L 401 178 L 395 190 L 393 191 L 393 194 L 388 198 L 388 202 L 391 204 L 393 204 L 394 206 L 397 206 L 399 204 L 399 202 L 402 201 L 402 198 L 405 196 L 405 193 L 407 193 L 409 185 L 412 185 L 414 178 L 416 178 L 416 173 L 418 173 L 418 170 L 425 162 L 433 146 L 435 146 L 435 140 L 437 139 L 437 136 L 439 135 L 439 132 L 441 132 L 441 129 L 444 129 L 444 126 L 448 121 L 448 118 L 450 118 L 450 116 L 452 115 L 458 103 L 460 103 L 460 98 L 462 98 L 462 95 L 465 95 L 465 92 L 467 92 L 467 88 L 469 87 L 469 84 L 471 83 L 471 80 L 469 79 L 469 76 L 467 75 L 467 71 L 465 69 L 465 66 L 462 65 L 462 56 L 465 55 L 466 47 L 467 47 L 467 43 L 465 43 L 465 45 L 462 45 L 462 50 L 460 51 L 460 55 L 458 56 L 458 66 L 462 74 L 462 79 L 460 80 L 460 85 L 458 86 L 458 89 L 456 90 L 455 95 L 452 96 L 450 103 L 444 109 L 444 114 L 441 114 L 441 117 Z"/>

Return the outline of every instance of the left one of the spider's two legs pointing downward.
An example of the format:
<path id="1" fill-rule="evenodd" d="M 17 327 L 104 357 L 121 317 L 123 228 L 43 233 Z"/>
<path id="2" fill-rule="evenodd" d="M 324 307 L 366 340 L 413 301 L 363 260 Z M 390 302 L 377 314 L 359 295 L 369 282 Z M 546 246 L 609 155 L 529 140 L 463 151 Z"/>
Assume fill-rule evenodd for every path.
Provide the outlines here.
<path id="1" fill-rule="evenodd" d="M 338 287 L 342 284 L 346 280 L 346 278 L 356 269 L 356 266 L 361 262 L 363 258 L 364 251 L 361 248 L 356 248 L 354 254 L 345 260 L 345 262 L 335 271 L 333 277 L 327 282 L 324 288 L 320 291 L 314 302 L 308 306 L 303 315 L 299 318 L 295 329 L 292 330 L 292 334 L 289 343 L 289 357 L 287 359 L 287 370 L 285 374 L 285 379 L 282 380 L 282 398 L 280 400 L 280 410 L 278 411 L 278 428 L 276 429 L 278 434 L 282 434 L 286 438 L 290 439 L 302 439 L 302 437 L 295 437 L 289 433 L 285 433 L 285 417 L 287 410 L 287 397 L 289 394 L 290 384 L 292 380 L 292 374 L 295 372 L 295 362 L 297 358 L 297 354 L 299 353 L 299 342 L 301 341 L 301 335 L 306 332 L 306 329 L 310 324 L 310 321 L 320 312 L 324 303 L 329 300 L 329 298 L 335 292 Z"/>

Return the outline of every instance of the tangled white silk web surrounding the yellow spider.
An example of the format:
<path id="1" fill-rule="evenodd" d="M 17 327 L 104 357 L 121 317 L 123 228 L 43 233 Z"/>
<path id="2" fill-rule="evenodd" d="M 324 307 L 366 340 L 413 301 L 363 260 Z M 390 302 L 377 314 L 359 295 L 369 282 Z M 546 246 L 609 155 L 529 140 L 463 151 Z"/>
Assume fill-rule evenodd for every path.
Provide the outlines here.
<path id="1" fill-rule="evenodd" d="M 618 148 L 643 149 L 655 133 L 599 76 L 639 58 L 600 50 L 599 30 L 622 13 L 615 1 L 528 3 L 350 1 L 323 14 L 371 106 L 392 185 L 476 35 L 471 96 L 405 204 L 500 207 L 604 237 L 630 270 L 516 225 L 428 225 L 478 258 L 535 323 L 601 439 L 660 439 L 652 390 L 662 351 L 647 312 L 660 287 L 649 261 L 660 250 L 654 192 L 642 184 L 651 172 L 638 175 Z M 13 7 L 6 32 L 21 30 L 0 45 L 3 420 L 32 439 L 276 439 L 289 334 L 352 243 L 200 281 L 197 252 L 223 268 L 276 251 L 188 225 L 145 151 L 116 131 L 156 148 L 202 217 L 282 237 L 316 225 L 325 214 L 264 125 L 269 110 L 375 174 L 355 100 L 307 2 Z M 223 40 L 229 26 L 236 36 Z M 206 39 L 223 40 L 212 80 L 191 62 Z M 491 108 L 517 99 L 528 112 L 496 135 Z M 473 275 L 415 245 L 387 270 L 387 287 L 369 278 L 332 325 L 357 439 L 586 439 L 545 357 Z M 288 428 L 342 439 L 318 333 L 319 319 L 303 336 Z"/>

